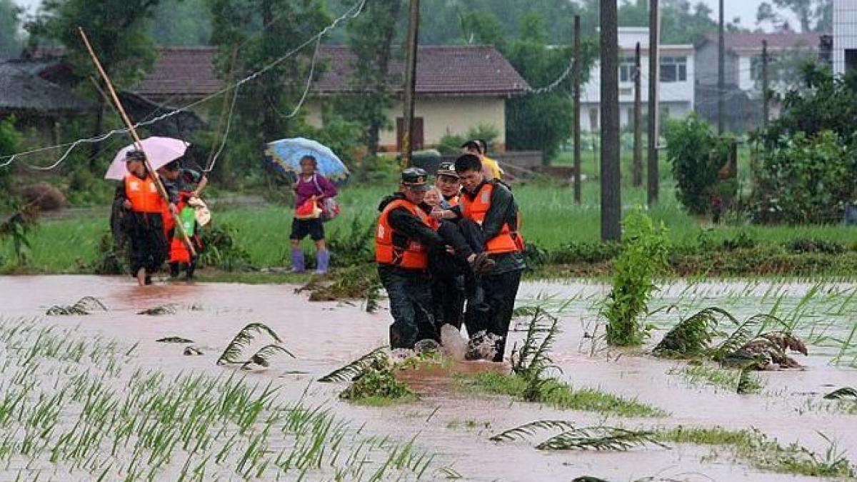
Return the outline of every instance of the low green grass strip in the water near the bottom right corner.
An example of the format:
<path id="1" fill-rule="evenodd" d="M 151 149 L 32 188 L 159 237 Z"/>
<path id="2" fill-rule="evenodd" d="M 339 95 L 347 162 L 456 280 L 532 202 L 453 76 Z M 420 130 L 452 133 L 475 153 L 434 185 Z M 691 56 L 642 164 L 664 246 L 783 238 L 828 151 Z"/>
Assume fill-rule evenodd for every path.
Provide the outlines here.
<path id="1" fill-rule="evenodd" d="M 728 448 L 733 455 L 754 467 L 776 473 L 790 473 L 812 477 L 854 477 L 854 465 L 845 457 L 844 450 L 825 437 L 828 443 L 824 454 L 816 454 L 796 443 L 781 445 L 759 431 L 728 430 L 722 427 L 676 427 L 656 431 L 660 442 L 694 443 Z M 718 453 L 720 451 L 718 450 Z"/>

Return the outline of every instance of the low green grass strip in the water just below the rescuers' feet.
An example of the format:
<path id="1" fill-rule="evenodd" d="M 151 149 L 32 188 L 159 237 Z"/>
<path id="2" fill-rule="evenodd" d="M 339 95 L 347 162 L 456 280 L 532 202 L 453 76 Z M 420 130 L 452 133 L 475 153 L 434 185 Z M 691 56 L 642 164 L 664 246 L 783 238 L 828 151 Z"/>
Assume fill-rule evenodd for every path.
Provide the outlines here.
<path id="1" fill-rule="evenodd" d="M 524 401 L 528 380 L 518 375 L 480 373 L 459 376 L 459 386 L 474 394 L 511 395 Z M 542 388 L 541 402 L 566 410 L 609 413 L 620 417 L 666 417 L 667 412 L 647 403 L 598 389 L 572 389 L 567 383 L 550 379 Z"/>

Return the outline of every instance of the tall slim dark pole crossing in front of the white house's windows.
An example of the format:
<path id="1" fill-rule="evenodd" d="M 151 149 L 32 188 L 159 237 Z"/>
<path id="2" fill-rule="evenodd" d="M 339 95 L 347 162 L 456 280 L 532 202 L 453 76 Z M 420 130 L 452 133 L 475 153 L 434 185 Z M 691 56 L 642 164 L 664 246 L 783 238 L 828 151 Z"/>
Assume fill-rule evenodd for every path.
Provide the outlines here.
<path id="1" fill-rule="evenodd" d="M 649 160 L 648 160 L 648 190 L 647 201 L 649 206 L 657 202 L 658 191 L 658 165 L 657 165 L 657 117 L 658 109 L 658 83 L 661 81 L 661 56 L 659 45 L 661 42 L 661 12 L 657 6 L 657 0 L 649 3 Z"/>

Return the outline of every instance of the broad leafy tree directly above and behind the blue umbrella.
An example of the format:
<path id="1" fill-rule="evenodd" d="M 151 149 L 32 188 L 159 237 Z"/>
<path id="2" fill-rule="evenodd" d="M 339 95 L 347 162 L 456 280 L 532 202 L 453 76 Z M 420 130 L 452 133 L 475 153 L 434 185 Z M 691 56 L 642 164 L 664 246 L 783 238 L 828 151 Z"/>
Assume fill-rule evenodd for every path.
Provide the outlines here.
<path id="1" fill-rule="evenodd" d="M 212 15 L 212 43 L 219 47 L 218 70 L 226 78 L 233 48 L 239 48 L 237 75 L 265 72 L 243 83 L 238 91 L 232 142 L 253 170 L 265 142 L 298 134 L 300 111 L 291 115 L 303 97 L 315 42 L 285 57 L 330 23 L 322 3 L 313 0 L 208 0 Z M 315 76 L 323 65 L 317 62 Z"/>

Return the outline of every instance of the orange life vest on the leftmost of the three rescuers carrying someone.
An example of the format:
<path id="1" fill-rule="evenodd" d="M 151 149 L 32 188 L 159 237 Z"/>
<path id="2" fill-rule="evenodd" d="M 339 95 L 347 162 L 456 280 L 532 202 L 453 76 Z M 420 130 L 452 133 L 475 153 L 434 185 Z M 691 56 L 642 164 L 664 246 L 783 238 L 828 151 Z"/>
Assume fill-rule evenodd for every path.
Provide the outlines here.
<path id="1" fill-rule="evenodd" d="M 391 264 L 399 268 L 425 269 L 428 268 L 428 251 L 423 244 L 414 239 L 408 239 L 407 245 L 396 246 L 393 244 L 393 226 L 390 226 L 389 214 L 393 209 L 405 208 L 423 221 L 426 226 L 433 223 L 423 209 L 413 202 L 397 199 L 387 204 L 378 218 L 378 229 L 375 232 L 375 261 L 379 264 Z"/>

